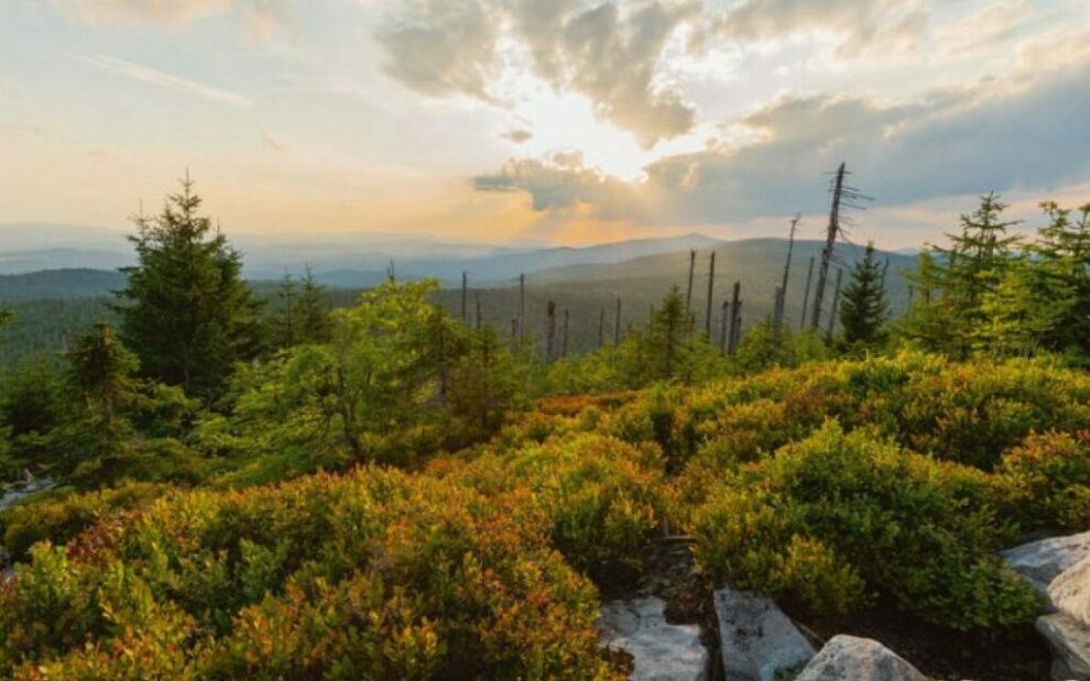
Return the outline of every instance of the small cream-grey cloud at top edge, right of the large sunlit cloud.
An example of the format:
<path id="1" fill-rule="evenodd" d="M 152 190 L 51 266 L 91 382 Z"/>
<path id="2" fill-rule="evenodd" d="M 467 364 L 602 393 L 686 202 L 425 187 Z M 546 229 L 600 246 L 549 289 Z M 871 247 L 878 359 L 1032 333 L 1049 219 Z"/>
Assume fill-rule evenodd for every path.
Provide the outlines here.
<path id="1" fill-rule="evenodd" d="M 716 19 L 711 32 L 741 42 L 830 33 L 837 54 L 854 57 L 915 51 L 928 19 L 926 0 L 744 0 Z"/>

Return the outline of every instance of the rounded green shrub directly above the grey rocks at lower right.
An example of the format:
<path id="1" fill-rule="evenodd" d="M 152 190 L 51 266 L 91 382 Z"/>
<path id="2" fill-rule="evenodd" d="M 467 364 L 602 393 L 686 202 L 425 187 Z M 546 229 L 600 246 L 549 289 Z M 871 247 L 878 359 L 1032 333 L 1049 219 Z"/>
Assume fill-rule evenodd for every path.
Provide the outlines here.
<path id="1" fill-rule="evenodd" d="M 1010 535 L 984 504 L 985 485 L 972 469 L 830 422 L 709 495 L 694 520 L 696 558 L 716 580 L 818 612 L 860 605 L 862 579 L 952 629 L 1023 624 L 1036 603 L 994 556 Z M 793 563 L 817 578 L 808 583 Z"/>

